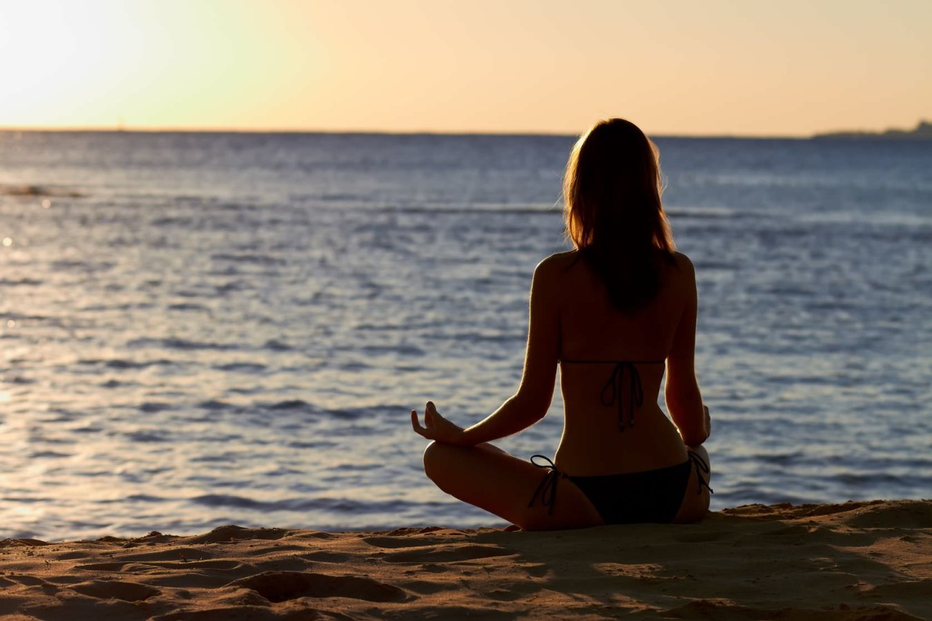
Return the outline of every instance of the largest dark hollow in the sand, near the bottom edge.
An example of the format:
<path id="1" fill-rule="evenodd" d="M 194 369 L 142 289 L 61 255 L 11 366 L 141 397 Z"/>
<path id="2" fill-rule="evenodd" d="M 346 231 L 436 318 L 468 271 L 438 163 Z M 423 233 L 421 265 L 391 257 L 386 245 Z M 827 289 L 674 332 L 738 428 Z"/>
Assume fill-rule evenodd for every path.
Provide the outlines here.
<path id="1" fill-rule="evenodd" d="M 227 586 L 252 588 L 268 601 L 274 602 L 308 597 L 404 601 L 408 597 L 401 588 L 371 578 L 310 572 L 263 572 L 234 580 Z"/>

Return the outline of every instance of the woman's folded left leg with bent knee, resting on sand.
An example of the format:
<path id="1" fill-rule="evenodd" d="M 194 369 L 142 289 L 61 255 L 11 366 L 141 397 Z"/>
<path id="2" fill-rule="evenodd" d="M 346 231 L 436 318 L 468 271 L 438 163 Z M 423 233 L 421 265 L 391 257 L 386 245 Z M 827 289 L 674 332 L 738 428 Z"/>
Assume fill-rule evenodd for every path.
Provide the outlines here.
<path id="1" fill-rule="evenodd" d="M 491 444 L 454 446 L 431 442 L 424 451 L 424 471 L 445 493 L 527 531 L 586 528 L 603 523 L 596 507 L 569 479 L 558 479 L 552 513 L 548 513 L 540 496 L 533 506 L 528 506 L 547 470 Z"/>

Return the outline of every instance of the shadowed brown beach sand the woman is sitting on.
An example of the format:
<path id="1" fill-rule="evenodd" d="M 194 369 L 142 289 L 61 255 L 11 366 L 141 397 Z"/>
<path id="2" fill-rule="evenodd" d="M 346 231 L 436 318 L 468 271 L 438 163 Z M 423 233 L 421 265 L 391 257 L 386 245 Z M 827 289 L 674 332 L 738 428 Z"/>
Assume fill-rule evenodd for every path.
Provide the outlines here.
<path id="1" fill-rule="evenodd" d="M 9 619 L 932 618 L 932 501 L 699 524 L 0 542 Z"/>

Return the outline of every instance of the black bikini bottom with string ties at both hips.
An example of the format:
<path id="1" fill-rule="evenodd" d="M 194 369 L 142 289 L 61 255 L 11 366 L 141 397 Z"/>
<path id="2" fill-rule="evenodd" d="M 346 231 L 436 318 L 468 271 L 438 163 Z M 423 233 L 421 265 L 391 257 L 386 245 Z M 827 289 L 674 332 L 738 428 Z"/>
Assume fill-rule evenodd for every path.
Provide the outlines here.
<path id="1" fill-rule="evenodd" d="M 669 522 L 679 511 L 689 485 L 690 472 L 695 465 L 697 493 L 708 488 L 708 481 L 701 472 L 708 472 L 708 465 L 696 453 L 687 452 L 689 459 L 676 466 L 667 466 L 643 472 L 625 472 L 618 475 L 598 477 L 569 477 L 556 469 L 554 463 L 543 455 L 531 457 L 534 466 L 547 468 L 541 484 L 531 496 L 528 506 L 532 506 L 541 495 L 541 503 L 553 512 L 556 501 L 556 481 L 561 478 L 571 480 L 596 507 L 598 514 L 606 524 L 633 524 L 637 522 Z M 538 464 L 535 458 L 545 460 Z M 712 490 L 709 489 L 709 492 Z"/>

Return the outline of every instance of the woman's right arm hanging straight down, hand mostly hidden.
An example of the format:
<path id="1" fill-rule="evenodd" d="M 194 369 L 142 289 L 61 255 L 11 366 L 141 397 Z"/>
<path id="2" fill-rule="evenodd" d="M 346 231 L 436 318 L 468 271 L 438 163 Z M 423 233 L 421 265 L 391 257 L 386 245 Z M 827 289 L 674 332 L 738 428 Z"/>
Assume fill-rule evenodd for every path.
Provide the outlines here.
<path id="1" fill-rule="evenodd" d="M 666 359 L 666 407 L 679 429 L 683 443 L 696 446 L 708 439 L 711 429 L 708 410 L 702 403 L 695 373 L 698 312 L 695 268 L 685 254 L 677 255 L 677 263 L 684 277 L 682 286 L 686 292 L 686 304 L 679 317 L 673 347 Z"/>

